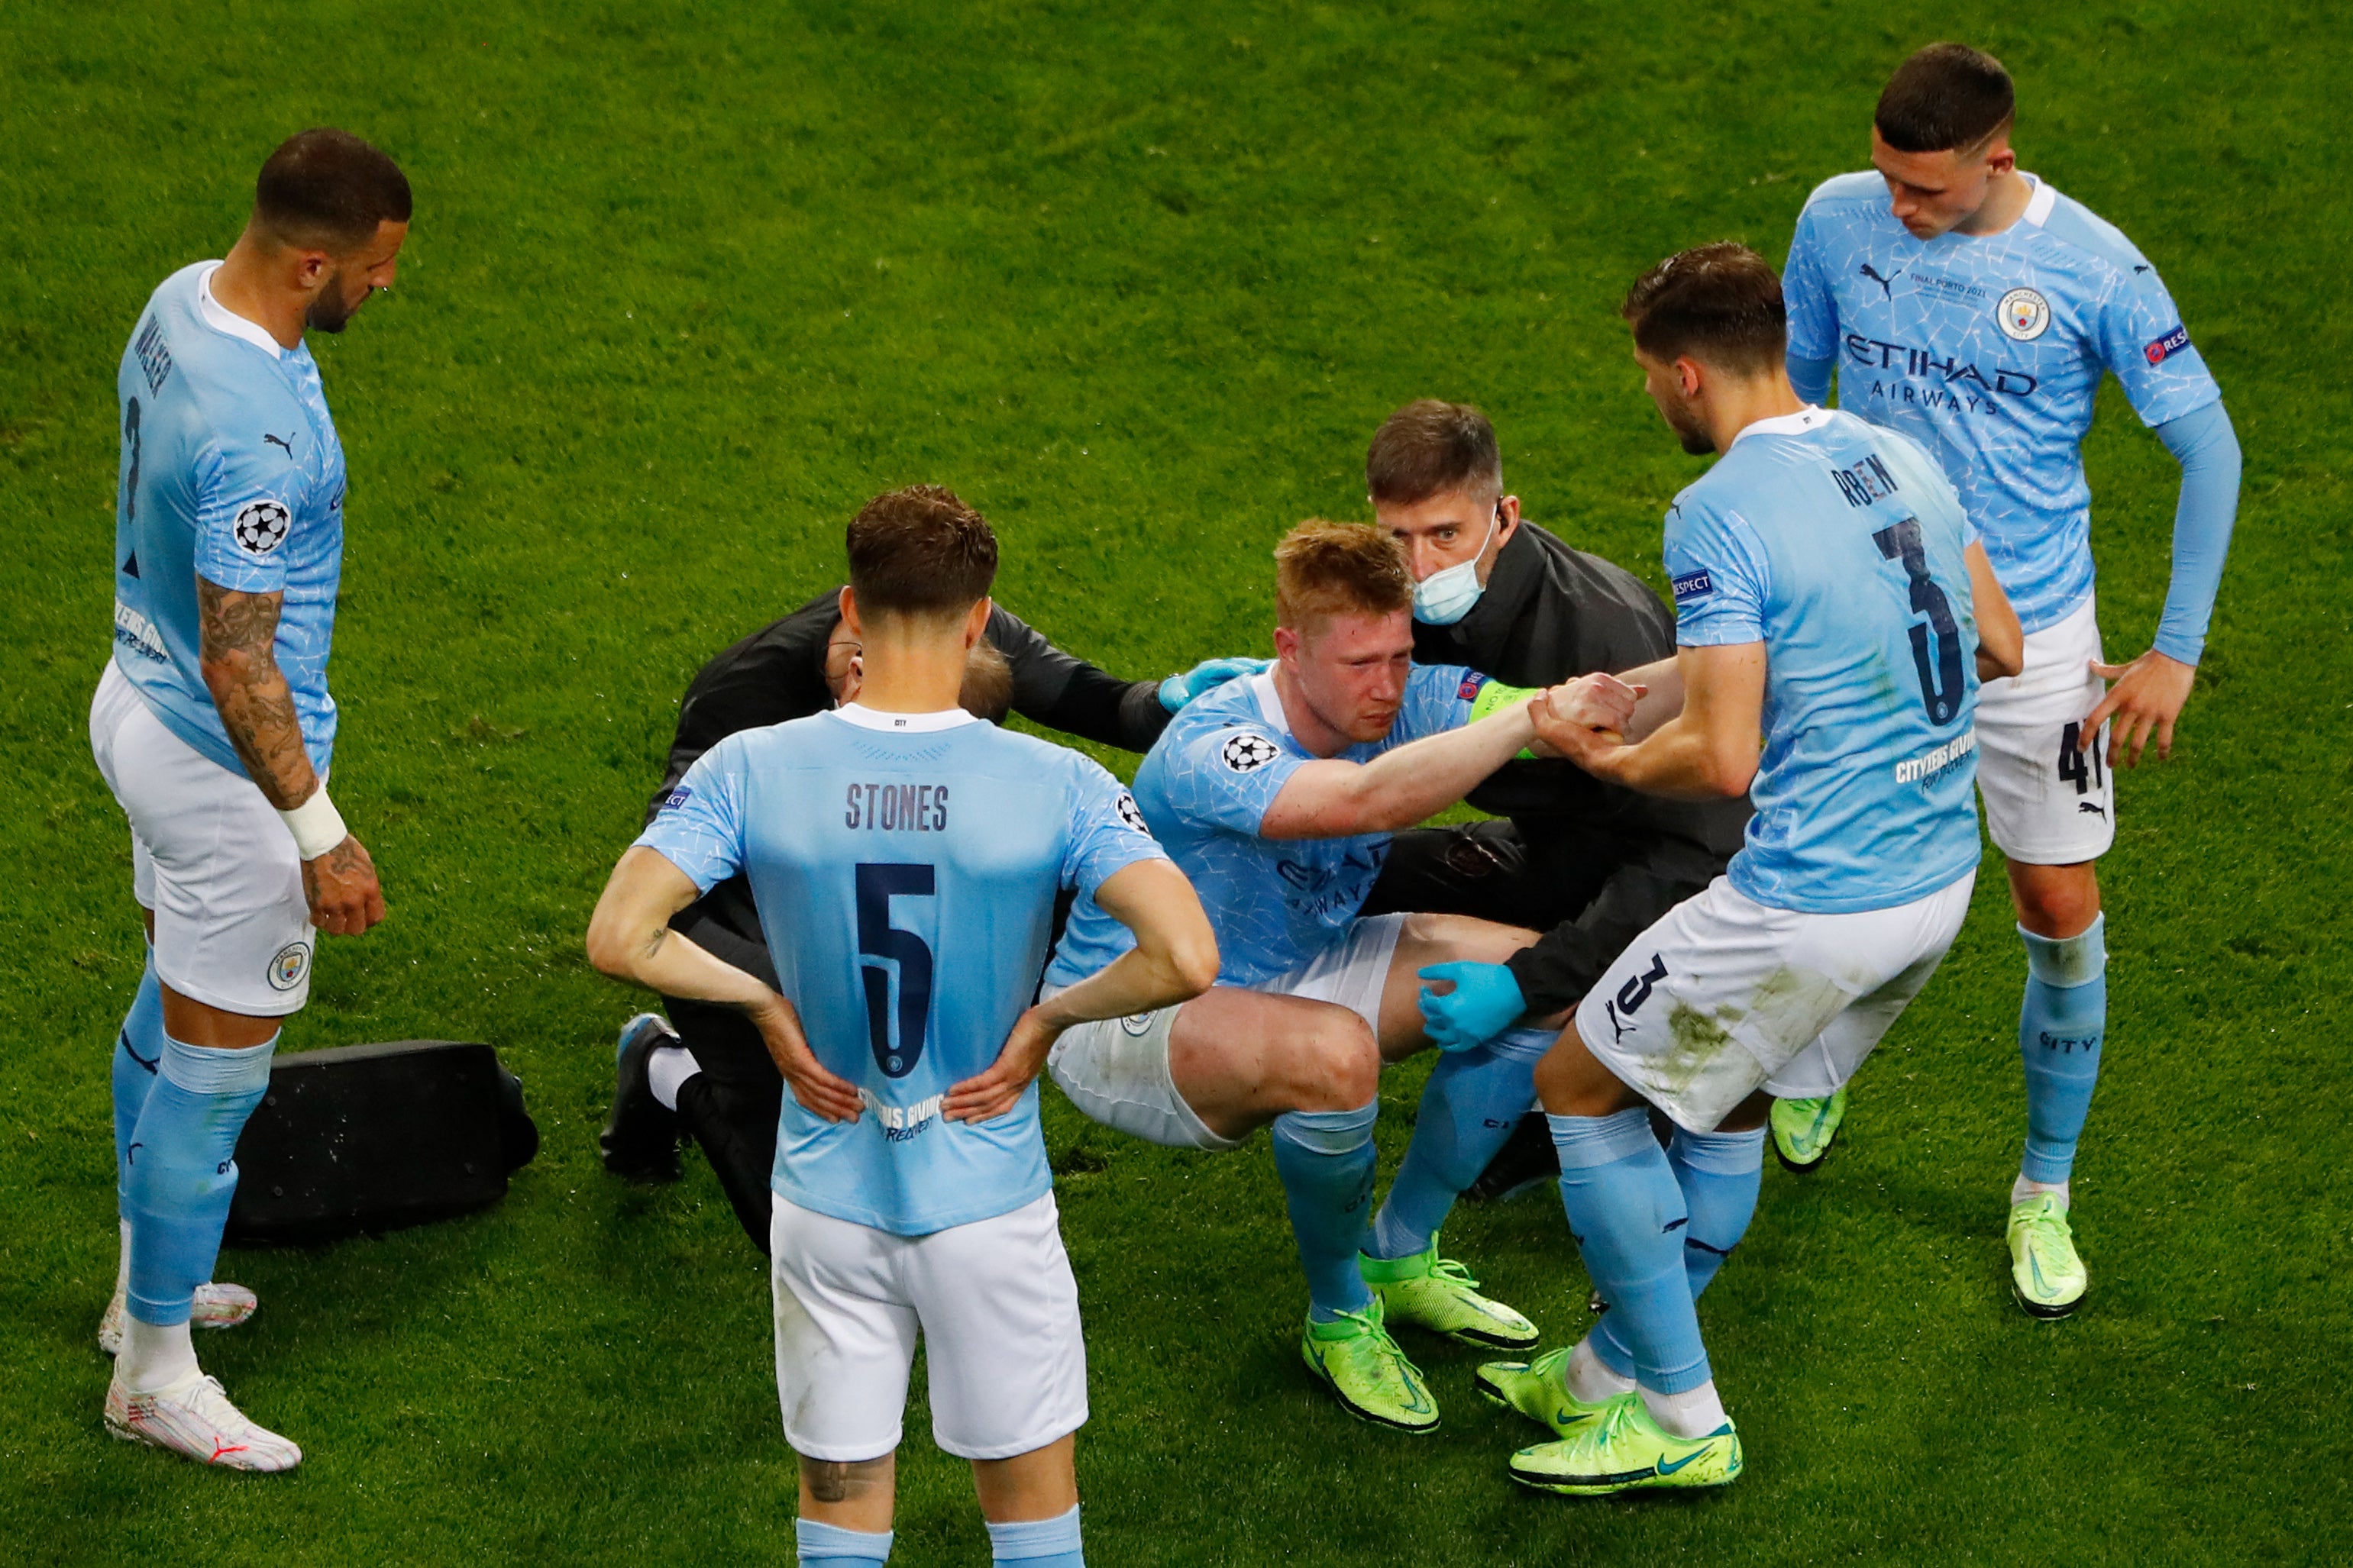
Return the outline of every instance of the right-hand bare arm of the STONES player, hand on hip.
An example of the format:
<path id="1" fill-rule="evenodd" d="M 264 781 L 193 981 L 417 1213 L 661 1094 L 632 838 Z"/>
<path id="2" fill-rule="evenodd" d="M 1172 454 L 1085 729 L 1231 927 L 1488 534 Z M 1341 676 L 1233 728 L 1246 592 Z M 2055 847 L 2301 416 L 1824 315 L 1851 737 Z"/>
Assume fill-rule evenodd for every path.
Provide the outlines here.
<path id="1" fill-rule="evenodd" d="M 1136 860 L 1104 877 L 1094 903 L 1136 933 L 1136 945 L 1099 973 L 1021 1013 L 998 1060 L 939 1103 L 953 1121 L 1002 1117 L 1045 1067 L 1061 1032 L 1094 1018 L 1127 1018 L 1191 1001 L 1217 985 L 1217 933 L 1193 884 L 1169 860 Z"/>

